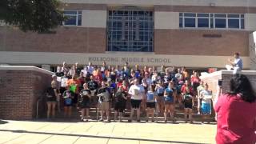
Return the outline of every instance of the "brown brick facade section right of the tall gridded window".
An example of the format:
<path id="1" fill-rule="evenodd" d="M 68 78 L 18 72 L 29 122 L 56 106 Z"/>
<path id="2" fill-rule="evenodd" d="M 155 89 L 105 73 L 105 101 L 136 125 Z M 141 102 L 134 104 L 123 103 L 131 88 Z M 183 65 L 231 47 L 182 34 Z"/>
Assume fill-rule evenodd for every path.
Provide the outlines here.
<path id="1" fill-rule="evenodd" d="M 207 38 L 217 34 L 220 38 Z M 248 31 L 154 30 L 155 54 L 230 56 L 238 51 L 249 56 Z"/>

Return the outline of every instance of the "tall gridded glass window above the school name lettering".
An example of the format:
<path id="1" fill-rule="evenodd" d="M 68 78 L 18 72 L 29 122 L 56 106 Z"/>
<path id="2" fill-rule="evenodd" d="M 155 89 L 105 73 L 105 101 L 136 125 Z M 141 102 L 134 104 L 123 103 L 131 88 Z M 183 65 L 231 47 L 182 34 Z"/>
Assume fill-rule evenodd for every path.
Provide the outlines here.
<path id="1" fill-rule="evenodd" d="M 152 52 L 153 18 L 152 11 L 130 10 L 130 7 L 127 10 L 110 10 L 107 28 L 108 51 Z"/>

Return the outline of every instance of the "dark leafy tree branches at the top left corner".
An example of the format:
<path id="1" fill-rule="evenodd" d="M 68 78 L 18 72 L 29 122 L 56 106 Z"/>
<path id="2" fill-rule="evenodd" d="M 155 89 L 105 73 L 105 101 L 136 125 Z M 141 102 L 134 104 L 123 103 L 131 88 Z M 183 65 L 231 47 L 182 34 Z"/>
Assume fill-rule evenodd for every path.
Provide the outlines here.
<path id="1" fill-rule="evenodd" d="M 47 32 L 62 25 L 58 0 L 0 0 L 0 20 L 21 30 Z"/>

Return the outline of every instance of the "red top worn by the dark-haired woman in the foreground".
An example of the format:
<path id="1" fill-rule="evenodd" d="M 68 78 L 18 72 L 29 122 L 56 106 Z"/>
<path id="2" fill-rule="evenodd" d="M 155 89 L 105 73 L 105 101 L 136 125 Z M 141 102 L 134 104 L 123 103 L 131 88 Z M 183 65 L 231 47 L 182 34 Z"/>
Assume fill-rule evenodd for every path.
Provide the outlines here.
<path id="1" fill-rule="evenodd" d="M 256 142 L 256 102 L 245 102 L 240 95 L 223 94 L 214 110 L 217 113 L 216 143 Z"/>

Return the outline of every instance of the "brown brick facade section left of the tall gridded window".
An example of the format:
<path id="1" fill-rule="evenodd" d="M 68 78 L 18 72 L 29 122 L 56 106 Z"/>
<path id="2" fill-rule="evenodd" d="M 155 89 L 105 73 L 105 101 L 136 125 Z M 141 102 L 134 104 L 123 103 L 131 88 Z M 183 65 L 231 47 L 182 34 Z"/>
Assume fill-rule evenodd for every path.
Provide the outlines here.
<path id="1" fill-rule="evenodd" d="M 37 34 L 0 26 L 0 51 L 104 53 L 106 29 L 60 27 L 56 34 Z"/>

